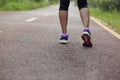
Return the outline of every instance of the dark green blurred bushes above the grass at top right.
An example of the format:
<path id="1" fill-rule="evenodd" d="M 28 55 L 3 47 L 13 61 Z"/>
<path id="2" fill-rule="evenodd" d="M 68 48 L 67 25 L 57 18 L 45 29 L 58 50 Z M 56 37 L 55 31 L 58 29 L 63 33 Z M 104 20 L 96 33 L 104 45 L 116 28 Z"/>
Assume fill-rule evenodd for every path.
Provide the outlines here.
<path id="1" fill-rule="evenodd" d="M 104 11 L 119 11 L 120 0 L 88 0 L 90 7 L 100 8 Z"/>

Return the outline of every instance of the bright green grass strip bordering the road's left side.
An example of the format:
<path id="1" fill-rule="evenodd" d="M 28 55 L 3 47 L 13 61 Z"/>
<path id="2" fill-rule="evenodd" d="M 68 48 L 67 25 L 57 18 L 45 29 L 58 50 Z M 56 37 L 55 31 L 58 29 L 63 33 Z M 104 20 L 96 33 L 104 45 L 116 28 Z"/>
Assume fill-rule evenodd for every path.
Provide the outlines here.
<path id="1" fill-rule="evenodd" d="M 23 2 L 9 2 L 5 5 L 0 6 L 0 11 L 20 11 L 20 10 L 31 10 L 44 6 L 48 6 L 49 4 L 41 1 L 41 2 L 32 2 L 32 1 L 23 1 Z"/>

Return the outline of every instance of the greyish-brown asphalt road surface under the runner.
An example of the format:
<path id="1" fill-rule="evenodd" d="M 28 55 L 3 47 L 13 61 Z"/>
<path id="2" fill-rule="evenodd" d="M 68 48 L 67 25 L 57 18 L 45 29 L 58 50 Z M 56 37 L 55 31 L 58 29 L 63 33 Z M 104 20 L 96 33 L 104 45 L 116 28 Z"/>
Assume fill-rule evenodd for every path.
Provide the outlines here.
<path id="1" fill-rule="evenodd" d="M 69 43 L 59 44 L 58 6 L 0 12 L 0 80 L 120 80 L 120 40 L 90 21 L 92 48 L 70 6 Z"/>

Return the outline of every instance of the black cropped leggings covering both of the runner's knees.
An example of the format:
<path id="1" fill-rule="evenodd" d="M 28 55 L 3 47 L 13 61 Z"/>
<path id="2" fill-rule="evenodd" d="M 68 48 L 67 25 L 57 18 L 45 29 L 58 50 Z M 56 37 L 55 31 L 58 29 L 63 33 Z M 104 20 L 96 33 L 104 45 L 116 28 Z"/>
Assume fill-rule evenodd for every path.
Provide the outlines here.
<path id="1" fill-rule="evenodd" d="M 59 10 L 66 10 L 68 11 L 70 4 L 70 0 L 60 0 L 60 8 Z M 78 8 L 84 8 L 87 7 L 87 0 L 77 0 Z"/>

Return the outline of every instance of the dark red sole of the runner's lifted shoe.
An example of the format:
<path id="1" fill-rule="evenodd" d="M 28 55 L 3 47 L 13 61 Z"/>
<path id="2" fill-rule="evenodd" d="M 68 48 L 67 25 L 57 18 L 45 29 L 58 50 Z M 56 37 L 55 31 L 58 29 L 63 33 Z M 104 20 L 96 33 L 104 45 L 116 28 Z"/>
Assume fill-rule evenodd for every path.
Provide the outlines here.
<path id="1" fill-rule="evenodd" d="M 83 46 L 84 47 L 92 47 L 92 42 L 90 41 L 90 36 L 88 34 L 83 34 L 82 39 L 84 40 Z"/>

